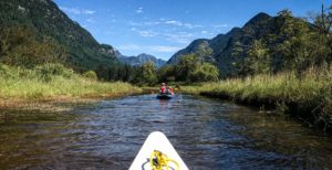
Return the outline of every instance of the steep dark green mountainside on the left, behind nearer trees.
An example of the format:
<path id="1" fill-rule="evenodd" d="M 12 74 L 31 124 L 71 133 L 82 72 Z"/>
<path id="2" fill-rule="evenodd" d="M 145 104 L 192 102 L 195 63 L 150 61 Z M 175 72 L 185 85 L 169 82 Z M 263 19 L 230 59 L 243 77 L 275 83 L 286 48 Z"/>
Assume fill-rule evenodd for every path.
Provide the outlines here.
<path id="1" fill-rule="evenodd" d="M 32 28 L 37 39 L 60 44 L 66 53 L 63 63 L 75 71 L 118 63 L 111 45 L 100 44 L 52 0 L 1 0 L 0 9 L 0 28 Z"/>

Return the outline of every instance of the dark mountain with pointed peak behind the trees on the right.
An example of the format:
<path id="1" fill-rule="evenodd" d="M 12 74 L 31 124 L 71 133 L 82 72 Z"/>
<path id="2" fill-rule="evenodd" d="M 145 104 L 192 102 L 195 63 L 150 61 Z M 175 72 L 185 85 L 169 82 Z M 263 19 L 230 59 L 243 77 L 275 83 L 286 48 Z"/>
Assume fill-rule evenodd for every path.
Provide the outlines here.
<path id="1" fill-rule="evenodd" d="M 278 17 L 270 17 L 267 13 L 258 13 L 250 19 L 242 28 L 234 28 L 226 34 L 219 34 L 214 39 L 199 39 L 193 41 L 187 47 L 175 53 L 167 64 L 176 64 L 179 59 L 189 53 L 196 53 L 199 60 L 215 63 L 222 77 L 235 75 L 234 62 L 236 60 L 235 49 L 238 44 L 250 45 L 278 29 Z M 237 56 L 241 57 L 241 56 Z"/>

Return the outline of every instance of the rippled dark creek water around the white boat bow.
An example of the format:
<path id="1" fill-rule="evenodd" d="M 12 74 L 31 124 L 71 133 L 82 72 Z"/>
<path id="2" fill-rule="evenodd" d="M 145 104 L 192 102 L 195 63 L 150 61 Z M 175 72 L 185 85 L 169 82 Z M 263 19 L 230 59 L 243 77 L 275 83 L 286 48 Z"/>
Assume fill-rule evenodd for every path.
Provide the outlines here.
<path id="1" fill-rule="evenodd" d="M 127 96 L 72 111 L 0 110 L 0 169 L 127 169 L 163 131 L 190 169 L 330 169 L 332 138 L 286 116 L 177 95 Z"/>

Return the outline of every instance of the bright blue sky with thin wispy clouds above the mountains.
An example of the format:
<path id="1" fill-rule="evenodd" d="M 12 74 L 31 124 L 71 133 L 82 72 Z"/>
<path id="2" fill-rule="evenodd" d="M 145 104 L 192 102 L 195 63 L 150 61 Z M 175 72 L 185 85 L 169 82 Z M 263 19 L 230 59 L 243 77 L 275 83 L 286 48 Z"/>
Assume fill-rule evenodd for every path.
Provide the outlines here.
<path id="1" fill-rule="evenodd" d="M 295 17 L 332 0 L 53 0 L 100 42 L 124 55 L 168 60 L 193 40 L 242 26 L 259 12 L 289 9 Z"/>

